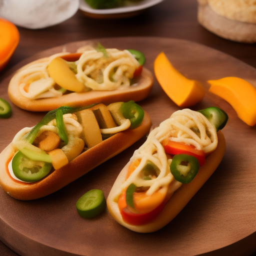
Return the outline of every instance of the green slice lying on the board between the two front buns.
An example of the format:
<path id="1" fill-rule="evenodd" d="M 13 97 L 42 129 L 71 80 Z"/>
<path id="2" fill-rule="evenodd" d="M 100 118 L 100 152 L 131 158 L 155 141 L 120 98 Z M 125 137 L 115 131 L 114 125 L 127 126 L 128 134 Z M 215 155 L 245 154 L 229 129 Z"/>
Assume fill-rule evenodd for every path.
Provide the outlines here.
<path id="1" fill-rule="evenodd" d="M 76 202 L 76 210 L 83 218 L 91 218 L 101 213 L 106 206 L 106 199 L 100 189 L 91 189 Z"/>

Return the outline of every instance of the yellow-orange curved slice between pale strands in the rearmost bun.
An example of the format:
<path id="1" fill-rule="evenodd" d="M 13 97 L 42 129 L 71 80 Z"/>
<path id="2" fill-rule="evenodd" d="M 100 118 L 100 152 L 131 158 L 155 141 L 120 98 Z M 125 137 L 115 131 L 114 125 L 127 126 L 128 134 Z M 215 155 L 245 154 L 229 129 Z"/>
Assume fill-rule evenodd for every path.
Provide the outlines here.
<path id="1" fill-rule="evenodd" d="M 84 85 L 76 79 L 75 74 L 62 58 L 53 58 L 47 69 L 49 76 L 64 89 L 75 92 L 82 92 L 84 90 Z"/>

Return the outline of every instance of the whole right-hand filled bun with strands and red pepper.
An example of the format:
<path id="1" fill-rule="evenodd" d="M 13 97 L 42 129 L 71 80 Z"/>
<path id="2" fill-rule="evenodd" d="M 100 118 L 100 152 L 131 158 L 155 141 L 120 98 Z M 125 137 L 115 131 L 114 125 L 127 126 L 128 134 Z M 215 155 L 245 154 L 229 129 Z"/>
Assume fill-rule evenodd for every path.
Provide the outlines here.
<path id="1" fill-rule="evenodd" d="M 152 130 L 145 143 L 134 152 L 116 178 L 107 198 L 107 207 L 113 218 L 121 225 L 143 233 L 160 229 L 182 210 L 220 163 L 225 152 L 223 133 L 220 130 L 216 132 L 206 118 L 201 118 L 200 113 L 188 110 L 176 111 L 181 115 L 172 115 Z M 195 125 L 194 121 L 196 124 L 199 123 L 199 126 Z M 190 131 L 187 129 L 189 127 Z M 186 136 L 185 132 L 192 134 L 192 130 L 195 133 L 199 130 L 204 136 L 204 127 L 207 143 L 206 140 L 203 141 L 204 138 L 196 138 L 195 134 L 192 137 Z M 193 138 L 196 142 L 192 141 Z M 191 143 L 185 143 L 183 140 Z M 196 147 L 191 148 L 191 145 L 197 145 L 198 141 L 201 149 L 194 151 Z M 190 157 L 187 165 L 183 163 L 186 160 L 177 160 L 178 157 L 186 159 L 184 157 L 187 155 Z M 178 161 L 181 162 L 176 163 Z M 192 167 L 193 161 L 198 162 L 197 173 Z M 172 172 L 172 166 L 180 173 Z M 186 174 L 182 172 L 184 169 Z M 191 170 L 195 172 L 193 177 Z"/>

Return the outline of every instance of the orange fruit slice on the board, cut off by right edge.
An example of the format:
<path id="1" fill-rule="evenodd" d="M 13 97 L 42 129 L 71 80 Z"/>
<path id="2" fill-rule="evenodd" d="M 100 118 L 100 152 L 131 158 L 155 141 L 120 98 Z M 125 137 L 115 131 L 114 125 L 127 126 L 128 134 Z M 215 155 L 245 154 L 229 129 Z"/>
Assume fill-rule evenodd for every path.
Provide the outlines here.
<path id="1" fill-rule="evenodd" d="M 238 77 L 208 80 L 209 91 L 225 99 L 238 117 L 250 126 L 256 124 L 256 89 Z"/>

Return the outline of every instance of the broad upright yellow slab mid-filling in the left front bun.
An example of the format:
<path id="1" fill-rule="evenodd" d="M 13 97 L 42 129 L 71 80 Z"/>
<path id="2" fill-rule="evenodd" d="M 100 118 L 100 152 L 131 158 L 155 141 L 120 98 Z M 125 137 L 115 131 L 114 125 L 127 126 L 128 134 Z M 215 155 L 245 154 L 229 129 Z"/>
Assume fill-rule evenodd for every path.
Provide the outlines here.
<path id="1" fill-rule="evenodd" d="M 91 109 L 84 109 L 75 113 L 78 122 L 82 125 L 81 138 L 87 147 L 102 142 L 101 133 L 95 115 Z"/>

